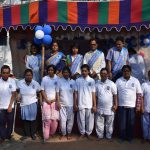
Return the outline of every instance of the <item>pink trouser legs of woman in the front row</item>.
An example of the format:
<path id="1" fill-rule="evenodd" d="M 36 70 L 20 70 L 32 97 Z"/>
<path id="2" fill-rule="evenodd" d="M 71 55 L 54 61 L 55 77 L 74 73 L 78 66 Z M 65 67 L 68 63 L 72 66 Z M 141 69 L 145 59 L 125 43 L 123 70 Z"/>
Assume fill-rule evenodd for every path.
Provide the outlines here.
<path id="1" fill-rule="evenodd" d="M 57 120 L 43 120 L 43 136 L 45 140 L 49 139 L 50 136 L 55 134 L 57 126 Z"/>

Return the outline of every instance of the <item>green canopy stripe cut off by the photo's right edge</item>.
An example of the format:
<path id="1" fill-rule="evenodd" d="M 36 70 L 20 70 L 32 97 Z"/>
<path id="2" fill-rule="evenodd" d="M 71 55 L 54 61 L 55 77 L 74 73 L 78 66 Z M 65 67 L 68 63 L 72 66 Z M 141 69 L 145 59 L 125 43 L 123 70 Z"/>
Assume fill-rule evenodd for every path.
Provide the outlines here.
<path id="1" fill-rule="evenodd" d="M 142 0 L 142 21 L 150 20 L 150 0 Z"/>

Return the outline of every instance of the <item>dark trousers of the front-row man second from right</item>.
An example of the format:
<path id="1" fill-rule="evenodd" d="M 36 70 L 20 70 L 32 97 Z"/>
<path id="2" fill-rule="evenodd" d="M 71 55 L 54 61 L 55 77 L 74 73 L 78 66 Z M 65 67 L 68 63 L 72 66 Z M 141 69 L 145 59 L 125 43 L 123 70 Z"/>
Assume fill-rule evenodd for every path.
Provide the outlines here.
<path id="1" fill-rule="evenodd" d="M 118 116 L 120 138 L 131 141 L 134 134 L 135 108 L 119 107 Z"/>

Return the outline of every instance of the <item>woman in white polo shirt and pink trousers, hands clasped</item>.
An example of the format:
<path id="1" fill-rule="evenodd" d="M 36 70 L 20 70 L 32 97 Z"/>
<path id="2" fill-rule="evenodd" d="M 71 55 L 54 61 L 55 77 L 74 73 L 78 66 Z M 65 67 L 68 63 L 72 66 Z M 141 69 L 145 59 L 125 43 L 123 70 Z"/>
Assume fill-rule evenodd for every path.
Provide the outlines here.
<path id="1" fill-rule="evenodd" d="M 58 77 L 56 76 L 56 67 L 49 65 L 47 67 L 47 76 L 43 77 L 41 88 L 43 97 L 42 120 L 44 141 L 53 136 L 57 130 L 59 111 L 56 104 L 56 86 Z"/>

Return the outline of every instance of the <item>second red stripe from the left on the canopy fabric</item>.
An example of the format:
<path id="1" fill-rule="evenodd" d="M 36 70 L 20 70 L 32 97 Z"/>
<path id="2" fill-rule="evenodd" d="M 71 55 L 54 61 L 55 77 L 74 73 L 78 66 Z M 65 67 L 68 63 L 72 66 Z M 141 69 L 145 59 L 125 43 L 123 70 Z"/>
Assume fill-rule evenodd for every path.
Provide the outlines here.
<path id="1" fill-rule="evenodd" d="M 48 22 L 58 22 L 58 2 L 48 0 Z"/>

